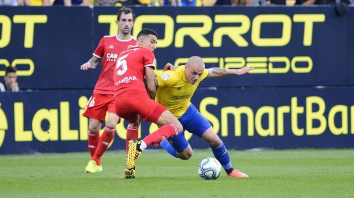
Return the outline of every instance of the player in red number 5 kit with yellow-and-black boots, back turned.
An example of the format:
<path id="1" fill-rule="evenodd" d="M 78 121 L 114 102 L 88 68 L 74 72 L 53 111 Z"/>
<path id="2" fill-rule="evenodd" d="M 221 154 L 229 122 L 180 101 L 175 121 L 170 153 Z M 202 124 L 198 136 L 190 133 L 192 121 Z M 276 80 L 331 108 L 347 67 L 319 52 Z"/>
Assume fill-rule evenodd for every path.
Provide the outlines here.
<path id="1" fill-rule="evenodd" d="M 155 31 L 141 30 L 136 46 L 119 55 L 114 70 L 114 102 L 117 115 L 128 120 L 129 125 L 138 125 L 140 116 L 143 120 L 161 126 L 143 140 L 129 142 L 124 178 L 135 178 L 135 162 L 147 146 L 158 144 L 183 130 L 181 123 L 165 107 L 153 100 L 156 92 L 153 50 L 156 49 L 156 43 Z"/>

